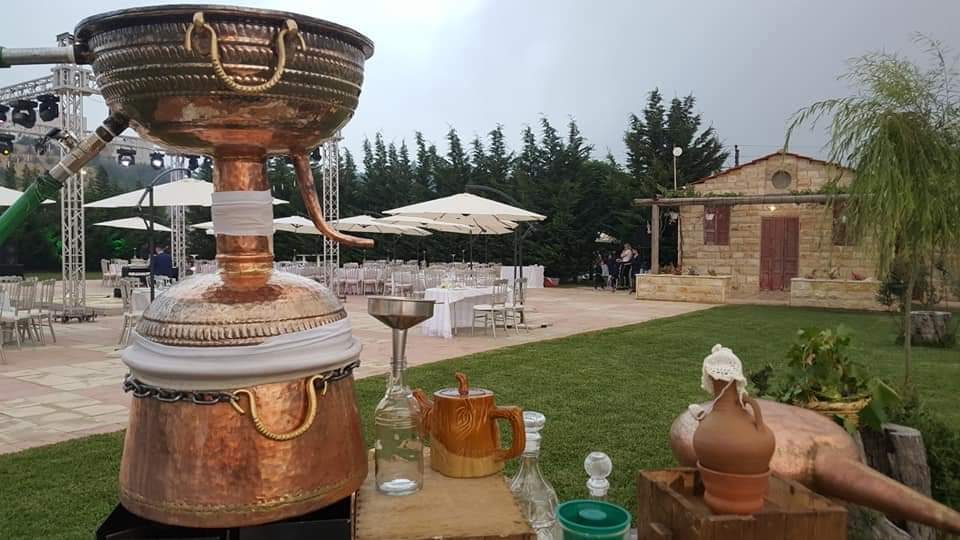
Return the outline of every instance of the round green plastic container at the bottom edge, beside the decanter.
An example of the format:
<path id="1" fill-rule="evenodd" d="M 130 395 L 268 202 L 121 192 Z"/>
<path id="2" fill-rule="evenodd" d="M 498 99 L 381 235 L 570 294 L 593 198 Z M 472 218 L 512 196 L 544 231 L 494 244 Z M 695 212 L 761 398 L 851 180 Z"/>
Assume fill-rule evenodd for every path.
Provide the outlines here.
<path id="1" fill-rule="evenodd" d="M 567 501 L 557 507 L 563 540 L 622 540 L 630 536 L 630 512 L 603 501 Z"/>

